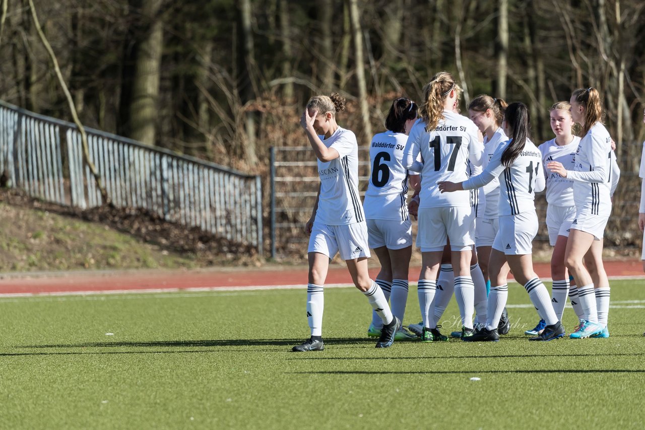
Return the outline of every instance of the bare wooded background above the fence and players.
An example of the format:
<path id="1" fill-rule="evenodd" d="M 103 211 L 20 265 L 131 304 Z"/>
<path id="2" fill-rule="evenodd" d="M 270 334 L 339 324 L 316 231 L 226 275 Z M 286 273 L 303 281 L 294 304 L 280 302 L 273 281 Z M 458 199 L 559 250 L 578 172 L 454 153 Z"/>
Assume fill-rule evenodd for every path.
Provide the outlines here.
<path id="1" fill-rule="evenodd" d="M 393 98 L 421 102 L 448 70 L 464 102 L 523 101 L 536 142 L 548 107 L 594 86 L 623 170 L 636 170 L 645 93 L 639 0 L 34 0 L 81 121 L 241 168 L 306 144 L 310 96 L 341 92 L 342 126 L 368 144 Z M 10 0 L 0 98 L 70 119 L 28 0 Z M 465 105 L 464 105 L 465 106 Z M 462 109 L 464 108 L 462 106 Z"/>

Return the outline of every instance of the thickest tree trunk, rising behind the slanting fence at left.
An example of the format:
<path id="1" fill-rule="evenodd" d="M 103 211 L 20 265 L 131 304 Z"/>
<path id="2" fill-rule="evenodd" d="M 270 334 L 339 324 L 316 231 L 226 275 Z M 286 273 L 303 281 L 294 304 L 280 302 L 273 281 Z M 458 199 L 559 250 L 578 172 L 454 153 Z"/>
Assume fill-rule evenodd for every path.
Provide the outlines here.
<path id="1" fill-rule="evenodd" d="M 159 116 L 159 81 L 163 52 L 163 22 L 159 12 L 163 0 L 144 0 L 141 15 L 148 32 L 137 50 L 130 103 L 130 137 L 154 145 Z"/>

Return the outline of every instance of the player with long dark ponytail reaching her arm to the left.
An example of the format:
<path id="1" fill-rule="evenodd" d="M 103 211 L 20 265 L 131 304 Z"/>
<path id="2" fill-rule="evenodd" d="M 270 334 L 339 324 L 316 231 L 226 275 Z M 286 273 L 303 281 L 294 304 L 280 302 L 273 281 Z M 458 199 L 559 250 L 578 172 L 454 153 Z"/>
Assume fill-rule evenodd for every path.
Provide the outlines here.
<path id="1" fill-rule="evenodd" d="M 497 327 L 508 298 L 507 277 L 513 271 L 515 280 L 522 284 L 533 306 L 547 322 L 539 337 L 531 340 L 552 340 L 564 336 L 564 328 L 555 316 L 549 293 L 533 271 L 532 240 L 537 234 L 535 191 L 544 189 L 544 171 L 540 151 L 528 136 L 528 109 L 522 103 L 511 103 L 504 113 L 502 126 L 511 140 L 503 142 L 495 151 L 484 171 L 465 182 L 439 182 L 441 192 L 459 192 L 480 188 L 500 178 L 499 231 L 490 255 L 491 289 L 488 295 L 486 326 L 467 342 L 499 340 Z M 494 285 L 494 286 L 493 286 Z"/>

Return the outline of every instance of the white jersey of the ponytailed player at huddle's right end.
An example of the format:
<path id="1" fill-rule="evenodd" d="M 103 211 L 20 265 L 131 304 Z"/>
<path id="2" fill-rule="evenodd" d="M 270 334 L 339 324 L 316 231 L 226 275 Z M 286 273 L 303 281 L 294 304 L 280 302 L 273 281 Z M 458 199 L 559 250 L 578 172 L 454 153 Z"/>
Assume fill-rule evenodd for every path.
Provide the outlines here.
<path id="1" fill-rule="evenodd" d="M 611 137 L 600 122 L 582 137 L 567 177 L 574 181 L 573 199 L 579 213 L 611 214 Z"/>

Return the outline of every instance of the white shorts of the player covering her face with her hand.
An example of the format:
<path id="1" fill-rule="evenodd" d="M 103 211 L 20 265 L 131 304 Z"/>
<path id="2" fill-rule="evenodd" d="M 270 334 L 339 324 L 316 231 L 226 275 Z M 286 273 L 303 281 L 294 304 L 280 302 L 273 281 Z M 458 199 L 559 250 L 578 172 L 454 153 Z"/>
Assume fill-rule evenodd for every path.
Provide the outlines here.
<path id="1" fill-rule="evenodd" d="M 367 226 L 365 222 L 328 226 L 314 220 L 307 252 L 319 252 L 330 259 L 337 252 L 341 253 L 343 260 L 370 257 Z"/>

